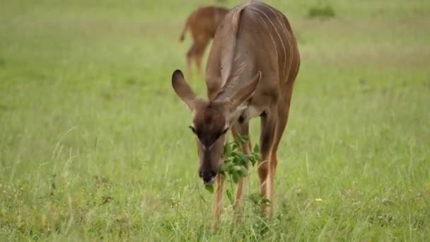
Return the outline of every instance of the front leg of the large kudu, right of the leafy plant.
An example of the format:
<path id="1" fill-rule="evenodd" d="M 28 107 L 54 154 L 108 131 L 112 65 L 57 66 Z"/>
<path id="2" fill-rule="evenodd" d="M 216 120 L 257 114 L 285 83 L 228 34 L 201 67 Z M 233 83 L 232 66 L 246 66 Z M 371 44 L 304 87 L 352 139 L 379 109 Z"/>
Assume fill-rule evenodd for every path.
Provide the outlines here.
<path id="1" fill-rule="evenodd" d="M 272 165 L 272 146 L 274 144 L 275 132 L 277 127 L 277 112 L 265 113 L 261 118 L 260 132 L 260 152 L 261 161 L 258 164 L 258 175 L 260 177 L 260 194 L 262 198 L 272 203 L 273 199 L 273 173 Z M 271 213 L 271 205 L 267 202 L 261 204 L 262 212 Z"/>

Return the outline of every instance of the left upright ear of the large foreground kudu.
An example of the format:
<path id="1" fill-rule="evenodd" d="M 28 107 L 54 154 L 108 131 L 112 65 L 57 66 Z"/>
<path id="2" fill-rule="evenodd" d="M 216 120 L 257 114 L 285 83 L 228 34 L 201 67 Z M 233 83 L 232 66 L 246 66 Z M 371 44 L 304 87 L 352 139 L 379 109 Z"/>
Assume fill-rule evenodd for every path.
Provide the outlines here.
<path id="1" fill-rule="evenodd" d="M 197 107 L 199 98 L 194 94 L 188 83 L 185 81 L 182 71 L 173 71 L 172 86 L 175 93 L 178 94 L 184 103 L 187 104 L 188 108 L 193 111 Z"/>

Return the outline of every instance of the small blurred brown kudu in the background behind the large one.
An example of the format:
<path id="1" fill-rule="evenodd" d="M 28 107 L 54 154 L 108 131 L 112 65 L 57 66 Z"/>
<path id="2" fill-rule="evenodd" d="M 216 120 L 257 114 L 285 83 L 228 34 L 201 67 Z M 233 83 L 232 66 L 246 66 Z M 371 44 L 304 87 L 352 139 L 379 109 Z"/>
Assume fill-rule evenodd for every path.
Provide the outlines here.
<path id="1" fill-rule="evenodd" d="M 198 8 L 187 18 L 184 29 L 180 35 L 180 42 L 185 38 L 188 28 L 191 30 L 193 43 L 187 52 L 187 78 L 192 78 L 192 61 L 194 60 L 197 72 L 202 77 L 202 58 L 209 41 L 214 38 L 216 28 L 223 21 L 228 12 L 227 8 L 206 6 Z"/>

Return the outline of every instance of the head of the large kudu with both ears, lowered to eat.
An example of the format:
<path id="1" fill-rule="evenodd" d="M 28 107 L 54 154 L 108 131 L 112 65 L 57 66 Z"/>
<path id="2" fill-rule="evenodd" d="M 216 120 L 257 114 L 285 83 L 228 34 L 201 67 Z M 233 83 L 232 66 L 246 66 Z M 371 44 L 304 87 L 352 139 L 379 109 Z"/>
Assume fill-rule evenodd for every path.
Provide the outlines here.
<path id="1" fill-rule="evenodd" d="M 227 142 L 226 133 L 233 124 L 233 117 L 239 105 L 245 103 L 260 82 L 261 73 L 255 75 L 245 86 L 230 97 L 204 100 L 197 97 L 184 79 L 180 70 L 172 75 L 175 93 L 192 111 L 190 129 L 195 134 L 199 156 L 199 177 L 205 185 L 214 183 L 223 163 L 223 147 Z M 220 91 L 221 93 L 221 91 Z"/>

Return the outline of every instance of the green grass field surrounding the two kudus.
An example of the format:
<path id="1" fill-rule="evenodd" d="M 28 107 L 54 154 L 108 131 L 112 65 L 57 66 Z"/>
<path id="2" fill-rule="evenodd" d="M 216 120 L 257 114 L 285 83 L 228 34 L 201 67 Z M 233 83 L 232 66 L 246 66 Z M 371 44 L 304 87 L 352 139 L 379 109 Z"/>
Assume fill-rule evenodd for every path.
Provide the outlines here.
<path id="1" fill-rule="evenodd" d="M 247 198 L 235 227 L 226 199 L 211 231 L 191 115 L 170 84 L 203 1 L 4 1 L 0 241 L 428 241 L 430 1 L 323 1 L 326 20 L 308 18 L 321 1 L 267 2 L 302 59 L 275 215 Z M 247 197 L 257 190 L 253 172 Z"/>

